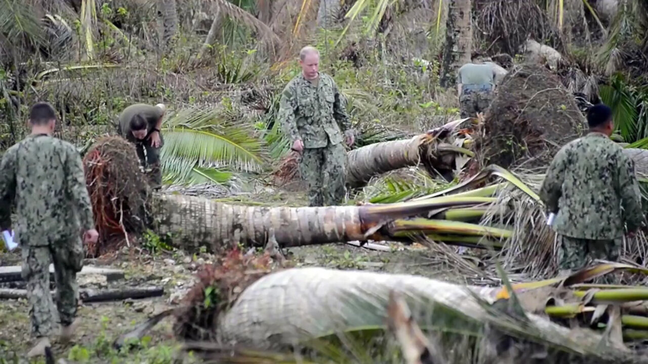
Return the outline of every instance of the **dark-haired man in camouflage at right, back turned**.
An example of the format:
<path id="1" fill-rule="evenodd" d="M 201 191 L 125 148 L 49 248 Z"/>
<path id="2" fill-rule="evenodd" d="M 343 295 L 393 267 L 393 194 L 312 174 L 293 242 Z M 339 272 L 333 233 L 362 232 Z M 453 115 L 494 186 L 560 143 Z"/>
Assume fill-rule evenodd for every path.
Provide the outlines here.
<path id="1" fill-rule="evenodd" d="M 590 132 L 559 150 L 540 190 L 548 212 L 556 214 L 561 269 L 618 259 L 624 225 L 632 236 L 643 221 L 634 161 L 609 138 L 612 111 L 597 104 L 587 122 Z"/>

